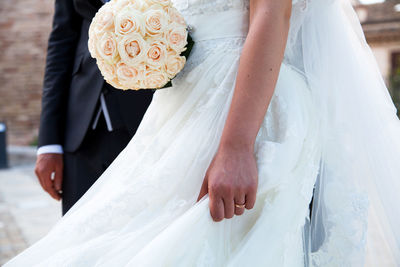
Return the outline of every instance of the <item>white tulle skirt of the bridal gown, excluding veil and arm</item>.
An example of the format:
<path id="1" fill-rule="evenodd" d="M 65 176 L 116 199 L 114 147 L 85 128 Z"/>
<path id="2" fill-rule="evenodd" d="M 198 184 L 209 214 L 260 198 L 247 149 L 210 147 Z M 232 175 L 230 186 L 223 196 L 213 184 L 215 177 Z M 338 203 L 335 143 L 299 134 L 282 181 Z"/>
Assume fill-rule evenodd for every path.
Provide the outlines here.
<path id="1" fill-rule="evenodd" d="M 307 80 L 291 65 L 281 66 L 257 136 L 254 209 L 216 223 L 208 197 L 196 203 L 242 44 L 196 44 L 114 163 L 43 239 L 5 266 L 304 266 L 319 131 Z"/>

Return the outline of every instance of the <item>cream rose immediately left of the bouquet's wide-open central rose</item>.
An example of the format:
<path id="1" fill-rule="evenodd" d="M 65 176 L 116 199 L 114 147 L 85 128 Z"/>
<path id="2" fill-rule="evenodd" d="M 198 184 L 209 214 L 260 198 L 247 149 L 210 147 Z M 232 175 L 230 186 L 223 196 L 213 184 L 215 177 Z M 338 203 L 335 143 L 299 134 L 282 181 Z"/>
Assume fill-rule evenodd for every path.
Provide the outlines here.
<path id="1" fill-rule="evenodd" d="M 117 40 L 114 33 L 105 32 L 96 43 L 98 56 L 109 64 L 114 64 L 119 60 Z"/>

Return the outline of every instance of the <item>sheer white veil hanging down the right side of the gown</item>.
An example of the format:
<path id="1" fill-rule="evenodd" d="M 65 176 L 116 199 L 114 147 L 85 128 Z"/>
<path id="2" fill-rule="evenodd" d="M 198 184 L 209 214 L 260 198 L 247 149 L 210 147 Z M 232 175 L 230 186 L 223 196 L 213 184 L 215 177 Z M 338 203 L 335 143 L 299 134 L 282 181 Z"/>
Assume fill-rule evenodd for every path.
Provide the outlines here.
<path id="1" fill-rule="evenodd" d="M 301 59 L 293 61 L 302 62 L 319 108 L 323 144 L 311 218 L 311 262 L 398 266 L 396 109 L 350 2 L 306 3 L 296 45 Z"/>

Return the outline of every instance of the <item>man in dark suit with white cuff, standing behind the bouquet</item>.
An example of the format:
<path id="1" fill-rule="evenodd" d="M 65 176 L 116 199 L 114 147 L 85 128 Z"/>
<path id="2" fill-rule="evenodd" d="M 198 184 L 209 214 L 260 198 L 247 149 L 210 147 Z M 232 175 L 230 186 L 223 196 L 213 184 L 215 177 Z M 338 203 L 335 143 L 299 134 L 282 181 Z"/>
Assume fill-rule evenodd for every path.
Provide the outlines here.
<path id="1" fill-rule="evenodd" d="M 107 0 L 104 0 L 105 2 Z M 135 134 L 152 92 L 104 82 L 88 51 L 101 0 L 56 0 L 43 84 L 35 172 L 65 214 Z"/>

